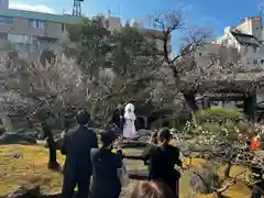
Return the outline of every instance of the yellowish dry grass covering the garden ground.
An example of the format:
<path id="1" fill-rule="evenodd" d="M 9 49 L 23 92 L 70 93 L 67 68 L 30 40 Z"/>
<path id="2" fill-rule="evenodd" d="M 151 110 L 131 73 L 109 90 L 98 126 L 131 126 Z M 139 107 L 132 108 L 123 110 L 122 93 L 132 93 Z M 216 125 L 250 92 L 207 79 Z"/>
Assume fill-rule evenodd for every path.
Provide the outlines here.
<path id="1" fill-rule="evenodd" d="M 125 150 L 125 153 L 140 153 L 140 150 Z M 43 193 L 53 194 L 61 191 L 62 174 L 47 169 L 47 151 L 42 145 L 4 145 L 0 146 L 0 195 L 6 195 L 23 184 L 40 184 Z M 63 165 L 64 157 L 58 153 L 58 162 Z M 125 162 L 130 169 L 145 169 L 142 162 Z M 200 168 L 206 162 L 204 160 L 193 160 L 194 168 Z M 223 167 L 222 167 L 223 168 Z M 220 175 L 222 174 L 220 168 Z M 242 167 L 233 167 L 231 175 L 243 170 Z M 186 170 L 180 179 L 180 198 L 194 198 L 188 196 L 190 173 Z M 123 189 L 123 197 L 129 197 L 136 182 L 131 182 L 129 187 Z M 245 198 L 250 195 L 250 189 L 239 182 L 235 186 L 227 190 L 224 196 L 230 198 Z M 213 195 L 199 195 L 196 198 L 213 198 Z"/>

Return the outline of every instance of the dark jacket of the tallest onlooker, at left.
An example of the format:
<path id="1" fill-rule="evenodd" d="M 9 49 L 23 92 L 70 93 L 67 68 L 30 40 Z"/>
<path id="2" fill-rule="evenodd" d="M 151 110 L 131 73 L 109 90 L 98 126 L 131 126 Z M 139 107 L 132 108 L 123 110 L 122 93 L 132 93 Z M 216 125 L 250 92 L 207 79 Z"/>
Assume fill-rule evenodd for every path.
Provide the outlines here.
<path id="1" fill-rule="evenodd" d="M 62 154 L 66 155 L 64 172 L 92 173 L 90 150 L 98 147 L 97 134 L 85 125 L 69 130 L 63 140 Z"/>

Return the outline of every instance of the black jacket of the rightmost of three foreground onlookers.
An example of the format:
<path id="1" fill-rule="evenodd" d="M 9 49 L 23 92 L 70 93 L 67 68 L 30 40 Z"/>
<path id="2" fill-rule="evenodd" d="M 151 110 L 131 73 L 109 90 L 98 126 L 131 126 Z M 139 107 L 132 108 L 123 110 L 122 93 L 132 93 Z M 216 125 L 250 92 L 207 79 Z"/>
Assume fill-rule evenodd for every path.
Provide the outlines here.
<path id="1" fill-rule="evenodd" d="M 142 153 L 142 160 L 148 161 L 148 179 L 163 180 L 172 188 L 180 177 L 175 165 L 182 166 L 179 148 L 173 145 L 148 145 Z"/>

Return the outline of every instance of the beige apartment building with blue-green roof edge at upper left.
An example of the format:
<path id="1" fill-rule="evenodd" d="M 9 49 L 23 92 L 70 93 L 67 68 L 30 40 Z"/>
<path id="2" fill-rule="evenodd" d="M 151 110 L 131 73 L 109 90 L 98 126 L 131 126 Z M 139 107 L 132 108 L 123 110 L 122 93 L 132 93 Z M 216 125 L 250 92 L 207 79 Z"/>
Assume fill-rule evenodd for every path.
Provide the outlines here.
<path id="1" fill-rule="evenodd" d="M 65 38 L 65 24 L 78 20 L 78 16 L 68 14 L 58 15 L 9 9 L 9 0 L 1 0 L 0 47 L 9 41 L 16 47 L 51 48 Z"/>

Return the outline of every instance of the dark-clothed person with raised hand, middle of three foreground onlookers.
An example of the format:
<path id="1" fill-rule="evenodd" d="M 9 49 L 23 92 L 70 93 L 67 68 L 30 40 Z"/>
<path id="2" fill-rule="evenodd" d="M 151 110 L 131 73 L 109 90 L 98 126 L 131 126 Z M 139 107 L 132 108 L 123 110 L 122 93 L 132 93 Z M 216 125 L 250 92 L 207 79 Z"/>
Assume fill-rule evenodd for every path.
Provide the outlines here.
<path id="1" fill-rule="evenodd" d="M 101 148 L 91 150 L 92 185 L 91 198 L 119 198 L 121 183 L 118 168 L 122 167 L 122 151 L 119 143 L 117 154 L 112 153 L 116 135 L 113 131 L 101 133 Z"/>

